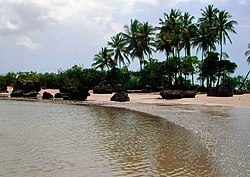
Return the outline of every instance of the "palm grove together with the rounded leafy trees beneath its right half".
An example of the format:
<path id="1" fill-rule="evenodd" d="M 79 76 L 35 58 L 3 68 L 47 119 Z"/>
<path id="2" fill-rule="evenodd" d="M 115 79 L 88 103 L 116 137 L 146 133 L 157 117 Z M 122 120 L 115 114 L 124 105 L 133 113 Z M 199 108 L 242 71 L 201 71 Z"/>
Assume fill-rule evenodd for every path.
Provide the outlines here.
<path id="1" fill-rule="evenodd" d="M 159 19 L 159 25 L 153 27 L 148 22 L 132 19 L 130 25 L 120 32 L 95 55 L 92 66 L 100 70 L 115 70 L 128 67 L 138 59 L 140 70 L 161 62 L 152 58 L 155 52 L 164 52 L 166 60 L 162 62 L 162 77 L 168 79 L 168 85 L 187 84 L 187 77 L 198 74 L 202 86 L 207 80 L 207 87 L 226 81 L 227 74 L 233 73 L 237 65 L 229 60 L 223 46 L 229 41 L 230 33 L 236 33 L 237 24 L 226 10 L 219 10 L 213 5 L 201 9 L 201 17 L 188 12 L 171 9 Z M 220 48 L 217 53 L 216 49 Z M 192 55 L 192 49 L 201 52 L 201 60 Z M 216 66 L 216 67 L 213 67 Z M 149 66 L 148 66 L 149 67 Z M 159 73 L 158 73 L 159 74 Z M 151 74 L 154 75 L 154 74 Z M 154 77 L 154 76 L 153 76 Z"/>

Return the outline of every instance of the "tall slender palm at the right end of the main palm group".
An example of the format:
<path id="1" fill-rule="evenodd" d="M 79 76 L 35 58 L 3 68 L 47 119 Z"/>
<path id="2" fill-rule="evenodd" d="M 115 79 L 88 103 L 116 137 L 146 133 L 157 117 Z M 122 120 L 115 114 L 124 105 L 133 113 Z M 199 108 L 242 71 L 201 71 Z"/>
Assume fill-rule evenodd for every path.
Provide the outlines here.
<path id="1" fill-rule="evenodd" d="M 222 60 L 223 55 L 223 43 L 226 44 L 226 40 L 228 39 L 230 43 L 232 43 L 232 40 L 228 34 L 228 32 L 232 32 L 236 34 L 236 31 L 234 30 L 234 25 L 237 24 L 236 21 L 230 20 L 232 16 L 225 10 L 222 10 L 218 14 L 217 22 L 216 22 L 216 31 L 218 33 L 218 40 L 220 44 L 220 60 Z"/>

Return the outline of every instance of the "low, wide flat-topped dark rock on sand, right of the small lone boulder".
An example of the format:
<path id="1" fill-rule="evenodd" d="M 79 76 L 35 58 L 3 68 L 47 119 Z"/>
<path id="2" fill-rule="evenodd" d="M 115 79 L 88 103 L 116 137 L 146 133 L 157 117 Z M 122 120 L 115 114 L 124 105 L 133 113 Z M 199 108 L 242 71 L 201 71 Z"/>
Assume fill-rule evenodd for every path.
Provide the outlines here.
<path id="1" fill-rule="evenodd" d="M 195 90 L 163 90 L 160 92 L 163 99 L 195 98 Z"/>

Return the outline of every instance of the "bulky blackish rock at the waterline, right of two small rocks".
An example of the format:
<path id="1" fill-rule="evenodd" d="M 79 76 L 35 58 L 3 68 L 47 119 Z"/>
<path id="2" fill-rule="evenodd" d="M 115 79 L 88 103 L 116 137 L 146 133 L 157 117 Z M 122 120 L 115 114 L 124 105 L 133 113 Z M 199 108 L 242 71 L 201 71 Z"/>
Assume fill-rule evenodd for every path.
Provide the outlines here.
<path id="1" fill-rule="evenodd" d="M 84 101 L 90 96 L 89 89 L 82 86 L 64 86 L 60 88 L 60 93 L 64 100 Z"/>

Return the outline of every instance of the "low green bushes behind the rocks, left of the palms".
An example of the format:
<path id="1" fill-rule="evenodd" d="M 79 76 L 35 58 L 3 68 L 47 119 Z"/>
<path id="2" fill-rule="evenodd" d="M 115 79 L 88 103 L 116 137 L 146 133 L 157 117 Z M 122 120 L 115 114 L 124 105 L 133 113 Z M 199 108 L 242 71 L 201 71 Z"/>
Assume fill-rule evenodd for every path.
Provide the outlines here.
<path id="1" fill-rule="evenodd" d="M 37 73 L 37 72 L 17 72 L 7 73 L 0 77 L 0 80 L 7 85 L 14 86 L 17 81 L 36 80 L 40 81 L 43 87 L 46 88 L 60 88 L 63 85 L 79 85 L 93 88 L 103 81 L 106 77 L 104 71 L 97 71 L 95 69 L 85 69 L 83 66 L 74 65 L 71 68 L 58 73 Z"/>

